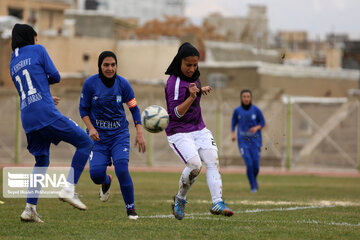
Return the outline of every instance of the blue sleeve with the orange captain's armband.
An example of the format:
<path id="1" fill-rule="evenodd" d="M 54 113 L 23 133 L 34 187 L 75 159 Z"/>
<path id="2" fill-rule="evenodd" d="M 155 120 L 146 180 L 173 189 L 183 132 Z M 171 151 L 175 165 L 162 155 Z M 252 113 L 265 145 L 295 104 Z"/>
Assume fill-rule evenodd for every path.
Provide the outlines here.
<path id="1" fill-rule="evenodd" d="M 141 124 L 140 109 L 137 106 L 134 90 L 132 89 L 130 83 L 125 78 L 121 78 L 121 83 L 122 83 L 121 89 L 124 96 L 123 103 L 126 103 L 128 105 L 135 126 L 137 124 Z"/>

